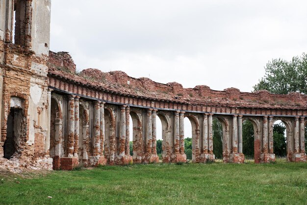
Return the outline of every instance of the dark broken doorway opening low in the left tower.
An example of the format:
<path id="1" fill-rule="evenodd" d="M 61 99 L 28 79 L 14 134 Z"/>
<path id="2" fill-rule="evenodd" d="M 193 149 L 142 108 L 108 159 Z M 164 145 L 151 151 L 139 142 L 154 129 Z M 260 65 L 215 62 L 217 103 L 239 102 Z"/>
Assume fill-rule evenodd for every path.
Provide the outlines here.
<path id="1" fill-rule="evenodd" d="M 7 117 L 6 140 L 3 145 L 4 158 L 10 159 L 17 153 L 22 140 L 23 115 L 22 109 L 12 107 Z"/>

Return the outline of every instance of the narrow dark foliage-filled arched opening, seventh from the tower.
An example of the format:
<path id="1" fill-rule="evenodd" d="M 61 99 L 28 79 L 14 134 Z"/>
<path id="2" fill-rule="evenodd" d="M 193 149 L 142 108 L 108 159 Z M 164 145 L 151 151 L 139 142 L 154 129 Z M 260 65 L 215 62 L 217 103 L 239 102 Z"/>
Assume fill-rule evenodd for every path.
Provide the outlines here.
<path id="1" fill-rule="evenodd" d="M 223 161 L 223 127 L 218 118 L 212 120 L 213 154 L 216 162 Z"/>

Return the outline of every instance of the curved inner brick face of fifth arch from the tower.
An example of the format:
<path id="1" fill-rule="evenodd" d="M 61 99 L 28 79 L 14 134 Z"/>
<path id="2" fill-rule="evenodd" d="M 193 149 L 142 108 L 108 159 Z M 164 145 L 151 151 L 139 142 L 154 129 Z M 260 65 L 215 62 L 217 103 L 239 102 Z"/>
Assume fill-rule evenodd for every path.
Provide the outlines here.
<path id="1" fill-rule="evenodd" d="M 157 116 L 162 124 L 162 161 L 168 163 L 171 161 L 172 154 L 172 129 L 170 119 L 162 111 L 158 111 Z"/>

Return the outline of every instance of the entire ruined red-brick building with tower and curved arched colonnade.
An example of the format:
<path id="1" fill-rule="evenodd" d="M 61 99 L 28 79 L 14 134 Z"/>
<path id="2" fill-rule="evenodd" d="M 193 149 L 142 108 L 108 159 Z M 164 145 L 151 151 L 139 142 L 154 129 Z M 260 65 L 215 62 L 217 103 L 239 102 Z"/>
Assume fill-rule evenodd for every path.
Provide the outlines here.
<path id="1" fill-rule="evenodd" d="M 306 161 L 306 95 L 182 88 L 119 71 L 77 74 L 67 52 L 49 51 L 50 12 L 51 0 L 0 0 L 0 168 L 158 162 L 157 117 L 163 162 L 186 160 L 185 117 L 192 125 L 193 162 L 214 161 L 213 118 L 222 123 L 225 162 L 244 161 L 242 122 L 247 119 L 255 130 L 256 162 L 275 160 L 276 120 L 286 125 L 287 160 Z"/>

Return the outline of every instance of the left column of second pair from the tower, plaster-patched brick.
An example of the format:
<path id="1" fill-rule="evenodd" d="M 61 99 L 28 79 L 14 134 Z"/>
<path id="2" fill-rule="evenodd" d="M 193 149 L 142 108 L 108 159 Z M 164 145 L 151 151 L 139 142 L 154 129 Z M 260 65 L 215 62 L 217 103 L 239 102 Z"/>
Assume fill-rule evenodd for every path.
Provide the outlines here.
<path id="1" fill-rule="evenodd" d="M 94 104 L 94 149 L 93 155 L 100 155 L 100 101 Z"/>

